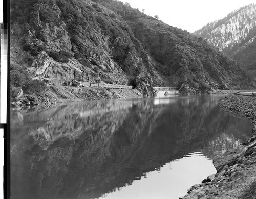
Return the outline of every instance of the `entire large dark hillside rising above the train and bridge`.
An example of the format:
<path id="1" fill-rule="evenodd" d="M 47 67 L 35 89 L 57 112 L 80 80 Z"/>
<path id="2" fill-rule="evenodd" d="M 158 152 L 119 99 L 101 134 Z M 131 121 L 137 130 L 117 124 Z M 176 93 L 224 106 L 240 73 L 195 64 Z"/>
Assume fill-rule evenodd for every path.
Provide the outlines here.
<path id="1" fill-rule="evenodd" d="M 145 96 L 153 86 L 183 93 L 252 86 L 236 61 L 206 41 L 111 0 L 11 1 L 11 86 L 29 92 L 30 79 L 133 85 Z"/>

